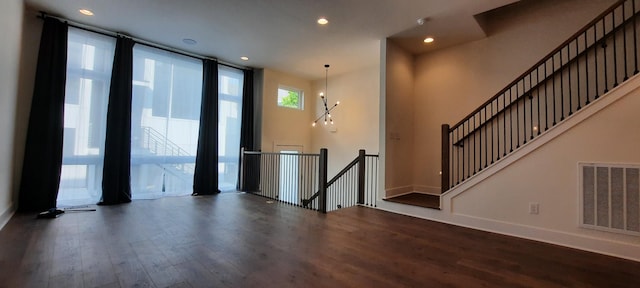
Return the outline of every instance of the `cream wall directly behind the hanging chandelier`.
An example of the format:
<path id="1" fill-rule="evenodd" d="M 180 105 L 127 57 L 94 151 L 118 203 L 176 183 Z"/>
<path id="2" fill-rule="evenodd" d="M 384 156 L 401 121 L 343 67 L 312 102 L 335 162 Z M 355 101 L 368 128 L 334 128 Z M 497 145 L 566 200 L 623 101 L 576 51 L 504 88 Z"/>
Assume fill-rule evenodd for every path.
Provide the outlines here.
<path id="1" fill-rule="evenodd" d="M 312 132 L 314 153 L 321 148 L 328 149 L 329 178 L 355 159 L 359 149 L 366 150 L 367 154 L 379 153 L 380 67 L 377 62 L 372 65 L 335 76 L 329 71 L 327 105 L 330 107 L 340 101 L 331 112 L 334 124 L 325 126 L 318 122 L 316 127 L 308 126 Z M 313 94 L 307 98 L 314 104 L 314 119 L 324 112 L 318 96 L 324 90 L 325 79 L 317 80 L 313 85 Z"/>

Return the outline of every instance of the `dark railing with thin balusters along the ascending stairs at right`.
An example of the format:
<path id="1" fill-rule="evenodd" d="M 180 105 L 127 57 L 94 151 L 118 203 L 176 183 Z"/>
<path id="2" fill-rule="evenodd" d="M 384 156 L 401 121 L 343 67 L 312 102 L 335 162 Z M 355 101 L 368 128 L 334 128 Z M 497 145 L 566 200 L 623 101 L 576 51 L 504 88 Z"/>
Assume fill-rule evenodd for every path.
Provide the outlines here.
<path id="1" fill-rule="evenodd" d="M 442 125 L 442 191 L 637 74 L 639 7 L 616 2 L 460 122 Z"/>

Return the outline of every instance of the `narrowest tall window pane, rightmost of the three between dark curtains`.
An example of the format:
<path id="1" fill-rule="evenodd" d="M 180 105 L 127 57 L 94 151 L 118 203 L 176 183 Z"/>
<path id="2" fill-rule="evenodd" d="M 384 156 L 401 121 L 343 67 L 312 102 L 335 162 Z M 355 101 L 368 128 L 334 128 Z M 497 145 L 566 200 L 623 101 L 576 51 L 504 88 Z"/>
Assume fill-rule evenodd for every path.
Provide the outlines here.
<path id="1" fill-rule="evenodd" d="M 231 191 L 238 182 L 244 74 L 222 65 L 218 74 L 218 185 L 222 191 Z"/>

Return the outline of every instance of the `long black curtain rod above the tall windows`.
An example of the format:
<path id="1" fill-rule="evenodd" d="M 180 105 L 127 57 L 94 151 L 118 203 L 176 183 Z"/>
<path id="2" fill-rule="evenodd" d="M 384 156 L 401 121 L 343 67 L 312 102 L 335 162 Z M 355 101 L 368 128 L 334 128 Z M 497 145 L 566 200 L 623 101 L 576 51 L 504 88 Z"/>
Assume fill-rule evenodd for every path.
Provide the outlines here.
<path id="1" fill-rule="evenodd" d="M 92 26 L 92 25 L 76 22 L 76 21 L 73 21 L 73 20 L 69 20 L 69 19 L 66 19 L 66 18 L 63 18 L 63 17 L 50 15 L 50 14 L 47 14 L 46 12 L 44 12 L 44 11 L 40 11 L 40 15 L 38 15 L 38 18 L 41 18 L 41 19 L 54 18 L 54 19 L 58 19 L 60 21 L 63 21 L 65 23 L 67 23 L 67 25 L 69 25 L 71 27 L 82 29 L 82 30 L 85 30 L 85 31 L 93 32 L 93 33 L 98 33 L 100 35 L 104 35 L 104 36 L 108 36 L 108 37 L 114 37 L 114 38 L 127 37 L 127 38 L 130 38 L 131 40 L 133 40 L 136 43 L 139 43 L 139 44 L 142 44 L 142 45 L 146 45 L 146 46 L 149 46 L 149 47 L 153 47 L 153 48 L 157 48 L 157 49 L 160 49 L 160 50 L 164 50 L 164 51 L 167 51 L 167 52 L 172 52 L 172 53 L 180 54 L 180 55 L 183 55 L 183 56 L 187 56 L 187 57 L 191 57 L 191 58 L 195 58 L 195 59 L 199 59 L 199 60 L 204 60 L 204 59 L 215 60 L 220 65 L 231 67 L 231 68 L 236 68 L 236 69 L 240 69 L 240 70 L 250 70 L 251 69 L 250 67 L 232 64 L 232 63 L 229 63 L 229 62 L 222 61 L 222 60 L 220 60 L 218 58 L 215 58 L 215 57 L 202 56 L 202 55 L 199 55 L 199 54 L 196 54 L 196 53 L 191 53 L 191 52 L 183 51 L 183 50 L 176 49 L 176 48 L 173 48 L 173 47 L 169 47 L 169 46 L 161 45 L 161 44 L 158 44 L 158 43 L 154 43 L 152 41 L 145 40 L 145 39 L 142 39 L 142 38 L 133 37 L 133 36 L 127 35 L 125 33 L 114 32 L 114 31 L 107 30 L 107 29 L 104 29 L 104 28 L 100 28 L 100 27 L 96 27 L 96 26 Z"/>

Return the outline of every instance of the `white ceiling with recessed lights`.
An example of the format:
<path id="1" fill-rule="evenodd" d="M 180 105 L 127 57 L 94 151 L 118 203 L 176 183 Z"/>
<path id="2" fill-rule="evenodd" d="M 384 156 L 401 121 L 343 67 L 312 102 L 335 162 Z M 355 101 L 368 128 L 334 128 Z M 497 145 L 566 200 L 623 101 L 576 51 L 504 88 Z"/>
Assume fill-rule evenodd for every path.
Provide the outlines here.
<path id="1" fill-rule="evenodd" d="M 380 40 L 425 53 L 485 37 L 474 15 L 518 0 L 25 0 L 28 8 L 305 79 L 371 67 Z M 94 16 L 84 16 L 89 9 Z M 329 24 L 316 23 L 326 17 Z M 418 19 L 425 19 L 423 25 Z M 435 42 L 425 44 L 425 36 Z M 183 43 L 194 39 L 195 45 Z M 240 60 L 249 57 L 248 61 Z"/>

